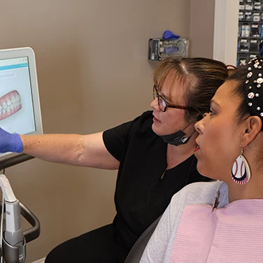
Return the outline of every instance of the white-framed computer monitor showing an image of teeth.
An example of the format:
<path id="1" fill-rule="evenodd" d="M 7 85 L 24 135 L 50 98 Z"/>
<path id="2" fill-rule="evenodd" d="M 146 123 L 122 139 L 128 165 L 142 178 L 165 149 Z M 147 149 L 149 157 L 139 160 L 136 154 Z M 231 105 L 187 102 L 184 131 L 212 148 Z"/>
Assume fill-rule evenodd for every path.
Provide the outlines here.
<path id="1" fill-rule="evenodd" d="M 0 50 L 0 127 L 10 133 L 43 134 L 31 48 Z"/>

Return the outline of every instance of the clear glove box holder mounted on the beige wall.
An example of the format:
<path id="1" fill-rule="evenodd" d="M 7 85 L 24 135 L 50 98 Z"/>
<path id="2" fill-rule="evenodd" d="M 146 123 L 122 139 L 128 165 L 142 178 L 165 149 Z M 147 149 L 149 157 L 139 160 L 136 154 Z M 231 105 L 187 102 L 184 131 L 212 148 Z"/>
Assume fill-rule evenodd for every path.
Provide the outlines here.
<path id="1" fill-rule="evenodd" d="M 164 57 L 187 57 L 189 41 L 185 38 L 150 38 L 148 60 L 161 61 Z"/>

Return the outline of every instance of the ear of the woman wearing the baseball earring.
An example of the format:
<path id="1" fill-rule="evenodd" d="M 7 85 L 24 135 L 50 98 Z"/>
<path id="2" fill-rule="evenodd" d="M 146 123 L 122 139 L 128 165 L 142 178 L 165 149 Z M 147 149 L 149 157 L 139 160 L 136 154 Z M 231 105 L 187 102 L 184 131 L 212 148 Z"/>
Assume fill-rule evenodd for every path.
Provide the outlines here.
<path id="1" fill-rule="evenodd" d="M 246 131 L 242 134 L 241 143 L 243 147 L 250 144 L 260 133 L 262 128 L 262 120 L 258 116 L 250 116 L 246 120 Z"/>

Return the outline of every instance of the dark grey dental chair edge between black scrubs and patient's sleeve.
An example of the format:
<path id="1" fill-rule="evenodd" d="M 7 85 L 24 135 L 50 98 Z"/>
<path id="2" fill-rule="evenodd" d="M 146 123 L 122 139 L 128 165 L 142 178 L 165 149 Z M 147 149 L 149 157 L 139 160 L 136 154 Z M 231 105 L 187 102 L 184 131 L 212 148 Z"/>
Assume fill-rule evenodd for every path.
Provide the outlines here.
<path id="1" fill-rule="evenodd" d="M 148 227 L 148 229 L 143 232 L 143 234 L 138 238 L 134 246 L 131 248 L 129 255 L 127 256 L 125 263 L 138 263 L 141 260 L 141 256 L 143 255 L 143 251 L 152 236 L 152 233 L 155 232 L 155 228 L 158 225 L 159 220 L 162 218 L 162 215 L 159 216 L 155 220 L 155 222 Z"/>

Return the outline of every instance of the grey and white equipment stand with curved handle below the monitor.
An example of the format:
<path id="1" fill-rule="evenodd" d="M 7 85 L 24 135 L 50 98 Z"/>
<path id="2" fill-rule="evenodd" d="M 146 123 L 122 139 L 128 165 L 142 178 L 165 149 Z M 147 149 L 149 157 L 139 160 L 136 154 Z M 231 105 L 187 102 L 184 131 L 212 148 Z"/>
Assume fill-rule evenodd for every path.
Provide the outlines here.
<path id="1" fill-rule="evenodd" d="M 30 155 L 20 154 L 3 159 L 0 161 L 0 171 L 33 158 Z M 0 175 L 0 187 L 5 199 L 6 213 L 6 229 L 2 237 L 3 247 L 0 246 L 0 257 L 3 257 L 6 263 L 22 263 L 26 259 L 26 243 L 38 238 L 40 223 L 36 216 L 15 198 L 10 183 L 3 174 Z M 24 232 L 20 227 L 20 214 L 31 225 Z"/>

